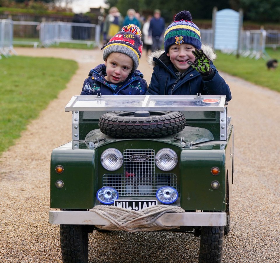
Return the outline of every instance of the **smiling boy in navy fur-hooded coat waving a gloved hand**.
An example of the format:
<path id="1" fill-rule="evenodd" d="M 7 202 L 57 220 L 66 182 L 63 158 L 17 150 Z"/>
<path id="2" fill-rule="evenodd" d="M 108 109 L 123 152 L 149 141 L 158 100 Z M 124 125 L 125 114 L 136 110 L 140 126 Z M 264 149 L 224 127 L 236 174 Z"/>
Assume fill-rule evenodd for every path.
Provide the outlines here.
<path id="1" fill-rule="evenodd" d="M 179 12 L 174 23 L 164 33 L 164 52 L 150 56 L 154 66 L 150 95 L 226 95 L 231 99 L 229 86 L 219 75 L 212 60 L 216 54 L 200 41 L 198 27 L 192 23 L 189 11 Z M 207 55 L 206 55 L 207 54 Z M 153 61 L 152 61 L 153 60 Z"/>

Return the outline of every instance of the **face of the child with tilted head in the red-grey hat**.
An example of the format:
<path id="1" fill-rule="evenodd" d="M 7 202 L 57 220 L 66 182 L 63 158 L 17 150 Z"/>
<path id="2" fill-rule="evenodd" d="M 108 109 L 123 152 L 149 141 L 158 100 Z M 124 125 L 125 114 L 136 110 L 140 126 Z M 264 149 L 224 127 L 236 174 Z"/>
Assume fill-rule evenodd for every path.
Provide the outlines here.
<path id="1" fill-rule="evenodd" d="M 113 52 L 105 59 L 106 74 L 105 79 L 112 83 L 119 83 L 127 79 L 133 68 L 131 57 Z"/>

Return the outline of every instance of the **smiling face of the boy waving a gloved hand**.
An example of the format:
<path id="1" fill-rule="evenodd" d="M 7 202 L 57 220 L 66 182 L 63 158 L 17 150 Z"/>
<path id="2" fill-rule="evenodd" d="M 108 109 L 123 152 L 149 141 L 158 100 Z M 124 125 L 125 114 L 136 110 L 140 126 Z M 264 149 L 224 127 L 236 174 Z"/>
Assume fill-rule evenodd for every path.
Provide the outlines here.
<path id="1" fill-rule="evenodd" d="M 170 57 L 171 62 L 180 73 L 184 73 L 188 70 L 190 67 L 188 64 L 189 60 L 192 62 L 195 61 L 192 50 L 195 50 L 195 47 L 190 44 L 174 44 L 169 47 L 167 56 Z"/>

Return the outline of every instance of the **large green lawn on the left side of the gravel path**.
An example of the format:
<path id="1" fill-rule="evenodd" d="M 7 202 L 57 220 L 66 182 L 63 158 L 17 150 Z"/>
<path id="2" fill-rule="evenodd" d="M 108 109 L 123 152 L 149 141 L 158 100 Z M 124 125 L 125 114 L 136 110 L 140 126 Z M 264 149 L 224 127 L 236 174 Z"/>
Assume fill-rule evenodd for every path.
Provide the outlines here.
<path id="1" fill-rule="evenodd" d="M 0 59 L 0 68 L 1 155 L 66 88 L 78 65 L 66 59 L 10 56 Z"/>

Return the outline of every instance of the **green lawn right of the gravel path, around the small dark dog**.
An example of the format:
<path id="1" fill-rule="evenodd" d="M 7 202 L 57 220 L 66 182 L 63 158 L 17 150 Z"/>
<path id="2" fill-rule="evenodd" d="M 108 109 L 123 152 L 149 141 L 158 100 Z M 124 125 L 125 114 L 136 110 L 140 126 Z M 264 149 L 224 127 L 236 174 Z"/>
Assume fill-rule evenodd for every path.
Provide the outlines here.
<path id="1" fill-rule="evenodd" d="M 280 49 L 266 49 L 267 54 L 277 59 L 280 63 Z M 223 71 L 233 76 L 237 76 L 257 85 L 267 87 L 271 90 L 280 92 L 280 77 L 279 70 L 267 70 L 265 59 L 250 59 L 249 57 L 240 56 L 237 58 L 235 55 L 223 54 L 219 51 L 217 59 L 214 61 L 218 71 Z"/>

